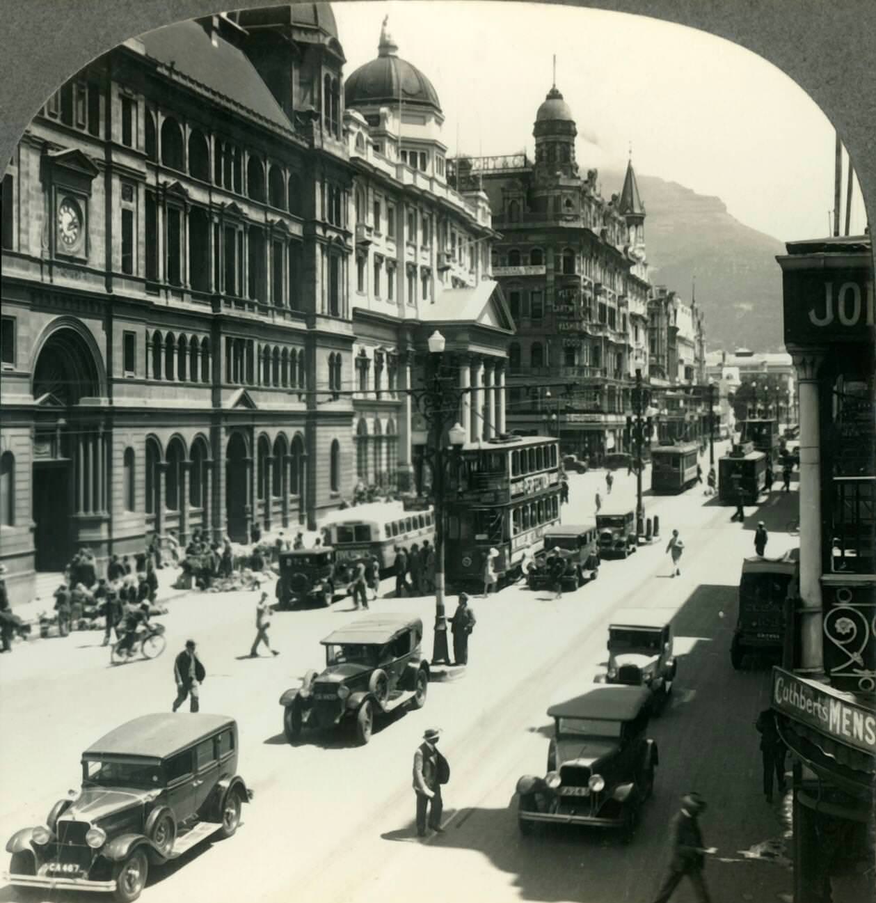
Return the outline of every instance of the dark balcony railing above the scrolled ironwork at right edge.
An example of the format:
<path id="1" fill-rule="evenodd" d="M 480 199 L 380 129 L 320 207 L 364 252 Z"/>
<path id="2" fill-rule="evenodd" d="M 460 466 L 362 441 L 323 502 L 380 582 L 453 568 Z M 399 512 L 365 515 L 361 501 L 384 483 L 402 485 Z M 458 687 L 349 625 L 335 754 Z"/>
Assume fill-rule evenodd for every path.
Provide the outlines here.
<path id="1" fill-rule="evenodd" d="M 835 477 L 831 570 L 873 573 L 876 477 Z"/>

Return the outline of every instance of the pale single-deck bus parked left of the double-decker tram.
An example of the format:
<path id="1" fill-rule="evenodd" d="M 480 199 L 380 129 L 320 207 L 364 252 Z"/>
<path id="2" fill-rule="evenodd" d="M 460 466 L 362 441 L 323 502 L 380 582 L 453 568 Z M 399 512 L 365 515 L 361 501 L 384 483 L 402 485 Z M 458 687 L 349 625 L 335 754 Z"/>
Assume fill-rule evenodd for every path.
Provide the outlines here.
<path id="1" fill-rule="evenodd" d="M 409 550 L 425 540 L 435 545 L 435 512 L 405 510 L 401 502 L 368 502 L 343 511 L 334 511 L 320 526 L 328 531 L 327 544 L 335 549 L 337 561 L 356 561 L 374 555 L 381 576 L 392 572 L 395 547 Z"/>

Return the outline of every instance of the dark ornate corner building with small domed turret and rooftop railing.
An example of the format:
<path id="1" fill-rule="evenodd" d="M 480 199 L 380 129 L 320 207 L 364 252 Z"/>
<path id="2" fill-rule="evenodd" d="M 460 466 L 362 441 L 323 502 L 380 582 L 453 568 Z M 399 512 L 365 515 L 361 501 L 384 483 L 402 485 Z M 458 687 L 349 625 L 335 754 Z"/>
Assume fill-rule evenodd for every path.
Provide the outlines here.
<path id="1" fill-rule="evenodd" d="M 563 450 L 623 451 L 636 368 L 648 373 L 645 209 L 632 163 L 620 196 L 582 178 L 576 123 L 554 86 L 526 154 L 454 161 L 451 181 L 483 185 L 502 240 L 493 275 L 517 336 L 509 348 L 508 423 L 554 433 Z M 568 386 L 568 387 L 567 387 Z"/>

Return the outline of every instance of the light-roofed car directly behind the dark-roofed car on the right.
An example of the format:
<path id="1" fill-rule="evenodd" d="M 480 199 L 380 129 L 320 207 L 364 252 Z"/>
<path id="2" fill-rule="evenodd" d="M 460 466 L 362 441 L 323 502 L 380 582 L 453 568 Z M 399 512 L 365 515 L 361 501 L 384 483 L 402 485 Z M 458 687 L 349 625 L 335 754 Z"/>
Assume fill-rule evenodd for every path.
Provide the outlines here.
<path id="1" fill-rule="evenodd" d="M 672 654 L 673 613 L 669 609 L 621 609 L 608 626 L 605 683 L 647 687 L 653 714 L 659 714 L 669 702 L 678 669 Z"/>

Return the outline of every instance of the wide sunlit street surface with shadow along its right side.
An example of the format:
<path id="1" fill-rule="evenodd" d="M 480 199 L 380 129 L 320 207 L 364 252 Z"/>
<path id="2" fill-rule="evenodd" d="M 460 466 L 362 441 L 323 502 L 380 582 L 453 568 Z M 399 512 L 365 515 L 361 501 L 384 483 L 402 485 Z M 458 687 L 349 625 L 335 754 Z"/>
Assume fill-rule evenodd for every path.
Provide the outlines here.
<path id="1" fill-rule="evenodd" d="M 616 476 L 613 496 L 632 500 L 634 479 L 625 471 Z M 597 485 L 605 495 L 604 471 L 572 478 L 565 521 L 589 519 Z M 42 822 L 52 802 L 77 786 L 78 754 L 101 733 L 136 714 L 170 708 L 172 656 L 191 635 L 207 666 L 203 710 L 238 720 L 239 768 L 255 800 L 233 839 L 153 870 L 143 895 L 149 903 L 273 903 L 290 894 L 314 903 L 410 896 L 422 903 L 647 903 L 663 867 L 665 825 L 688 789 L 710 803 L 702 824 L 706 842 L 719 848 L 707 868 L 715 903 L 788 899 L 790 872 L 781 859 L 787 813 L 783 803 L 763 801 L 753 730 L 766 704 L 768 671 L 734 672 L 728 649 L 740 560 L 752 554 L 754 524 L 763 517 L 775 530 L 768 551 L 779 554 L 794 542 L 779 531 L 796 503 L 796 492 L 773 493 L 757 517 L 749 509 L 752 517 L 739 526 L 729 522 L 732 509 L 699 489 L 646 498 L 646 513 L 659 513 L 662 542 L 625 562 L 604 563 L 597 582 L 562 600 L 518 587 L 473 600 L 478 624 L 466 675 L 430 685 L 420 712 L 393 717 L 364 748 L 331 735 L 305 735 L 291 747 L 277 704 L 284 689 L 320 665 L 318 639 L 355 617 L 349 600 L 331 610 L 278 613 L 277 658 L 239 657 L 254 634 L 253 592 L 173 600 L 164 619 L 169 649 L 153 662 L 109 667 L 97 632 L 19 644 L 13 656 L 0 658 L 0 835 Z M 669 577 L 665 554 L 672 526 L 686 542 L 677 578 Z M 392 595 L 389 581 L 383 595 Z M 604 662 L 611 613 L 630 605 L 678 610 L 677 692 L 650 729 L 660 753 L 655 797 L 630 846 L 608 833 L 575 830 L 522 838 L 513 791 L 521 774 L 543 773 L 545 711 L 592 684 Z M 373 610 L 417 612 L 429 627 L 433 608 L 429 599 L 388 598 Z M 422 732 L 433 725 L 444 729 L 441 745 L 452 768 L 447 830 L 420 842 L 410 766 Z M 0 889 L 0 903 L 14 898 L 13 889 Z M 692 898 L 690 889 L 677 892 L 678 900 Z"/>

